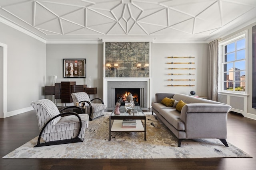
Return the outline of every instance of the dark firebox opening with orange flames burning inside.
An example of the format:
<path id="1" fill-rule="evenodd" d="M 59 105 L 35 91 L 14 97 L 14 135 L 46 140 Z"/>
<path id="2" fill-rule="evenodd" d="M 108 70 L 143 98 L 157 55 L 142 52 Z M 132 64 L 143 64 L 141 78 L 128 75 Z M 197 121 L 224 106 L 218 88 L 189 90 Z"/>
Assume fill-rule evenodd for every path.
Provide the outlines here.
<path id="1" fill-rule="evenodd" d="M 119 98 L 122 98 L 122 101 L 126 101 L 126 97 L 129 94 L 132 94 L 133 98 L 137 98 L 138 104 L 140 104 L 140 88 L 115 88 L 115 102 Z"/>

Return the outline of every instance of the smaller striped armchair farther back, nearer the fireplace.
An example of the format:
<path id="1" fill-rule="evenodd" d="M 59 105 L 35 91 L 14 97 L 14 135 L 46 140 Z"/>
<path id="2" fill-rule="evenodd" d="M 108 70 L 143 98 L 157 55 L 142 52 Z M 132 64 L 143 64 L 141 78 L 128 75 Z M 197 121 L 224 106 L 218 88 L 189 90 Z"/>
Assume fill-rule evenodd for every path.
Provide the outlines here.
<path id="1" fill-rule="evenodd" d="M 76 105 L 76 102 L 85 102 L 85 106 L 89 107 L 90 109 L 86 109 L 86 113 L 89 114 L 89 120 L 92 120 L 96 117 L 99 117 L 104 114 L 104 110 L 106 109 L 106 106 L 104 105 L 104 102 L 100 98 L 94 98 L 90 100 L 88 94 L 86 92 L 77 92 L 71 94 L 74 106 Z M 93 100 L 100 100 L 101 104 L 92 103 Z"/>

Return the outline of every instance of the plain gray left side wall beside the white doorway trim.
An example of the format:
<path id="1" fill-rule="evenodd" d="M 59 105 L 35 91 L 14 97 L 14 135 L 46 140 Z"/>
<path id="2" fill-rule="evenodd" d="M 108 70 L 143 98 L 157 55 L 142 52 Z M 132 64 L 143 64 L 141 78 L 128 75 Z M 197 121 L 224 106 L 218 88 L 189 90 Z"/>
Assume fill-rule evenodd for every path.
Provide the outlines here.
<path id="1" fill-rule="evenodd" d="M 0 23 L 0 42 L 8 45 L 7 111 L 30 107 L 44 98 L 46 45 L 16 29 Z M 2 97 L 2 96 L 1 96 Z"/>

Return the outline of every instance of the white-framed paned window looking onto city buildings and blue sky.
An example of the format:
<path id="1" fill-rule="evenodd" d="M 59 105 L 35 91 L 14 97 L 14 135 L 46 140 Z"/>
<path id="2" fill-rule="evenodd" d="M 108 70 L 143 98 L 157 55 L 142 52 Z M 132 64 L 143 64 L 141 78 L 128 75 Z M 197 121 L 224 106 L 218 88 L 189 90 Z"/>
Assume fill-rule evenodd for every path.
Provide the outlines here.
<path id="1" fill-rule="evenodd" d="M 246 93 L 247 31 L 220 42 L 222 92 Z"/>

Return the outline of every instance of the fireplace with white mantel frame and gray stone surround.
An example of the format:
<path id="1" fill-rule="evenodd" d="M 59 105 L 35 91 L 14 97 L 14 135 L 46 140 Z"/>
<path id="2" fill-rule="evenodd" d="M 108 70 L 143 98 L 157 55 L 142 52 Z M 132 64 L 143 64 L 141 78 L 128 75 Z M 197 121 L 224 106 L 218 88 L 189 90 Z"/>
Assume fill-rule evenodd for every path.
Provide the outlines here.
<path id="1" fill-rule="evenodd" d="M 119 78 L 118 80 L 120 80 Z M 108 79 L 106 79 L 108 80 Z M 106 97 L 104 98 L 104 103 L 106 103 L 106 106 L 108 108 L 113 108 L 117 102 L 118 97 L 116 97 L 116 90 L 115 89 L 122 89 L 126 92 L 132 93 L 132 96 L 134 94 L 138 94 L 137 101 L 140 104 L 140 107 L 148 107 L 148 81 L 143 80 L 131 80 L 131 79 L 122 79 L 118 81 L 117 79 L 112 79 L 106 81 Z M 129 89 L 129 90 L 128 90 Z M 130 90 L 136 90 L 130 91 Z M 123 92 L 122 92 L 123 93 Z M 118 94 L 122 95 L 122 94 Z M 106 102 L 105 102 L 106 101 Z"/>

